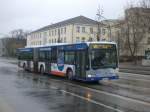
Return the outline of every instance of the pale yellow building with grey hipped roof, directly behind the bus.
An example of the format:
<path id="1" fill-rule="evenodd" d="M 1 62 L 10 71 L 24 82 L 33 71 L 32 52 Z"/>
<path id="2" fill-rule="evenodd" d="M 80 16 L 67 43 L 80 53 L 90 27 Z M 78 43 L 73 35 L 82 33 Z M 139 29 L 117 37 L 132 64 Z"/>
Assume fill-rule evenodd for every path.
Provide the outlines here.
<path id="1" fill-rule="evenodd" d="M 84 16 L 78 16 L 31 32 L 27 36 L 27 46 L 96 40 L 97 22 Z"/>

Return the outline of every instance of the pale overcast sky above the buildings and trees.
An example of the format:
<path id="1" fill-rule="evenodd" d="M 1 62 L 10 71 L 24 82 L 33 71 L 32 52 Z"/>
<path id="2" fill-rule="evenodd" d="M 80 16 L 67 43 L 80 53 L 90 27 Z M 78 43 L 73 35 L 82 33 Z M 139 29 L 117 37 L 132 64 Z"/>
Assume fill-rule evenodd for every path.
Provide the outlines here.
<path id="1" fill-rule="evenodd" d="M 0 0 L 0 35 L 14 29 L 35 30 L 75 16 L 96 19 L 100 5 L 108 19 L 123 15 L 129 0 Z M 132 0 L 138 1 L 138 0 Z"/>

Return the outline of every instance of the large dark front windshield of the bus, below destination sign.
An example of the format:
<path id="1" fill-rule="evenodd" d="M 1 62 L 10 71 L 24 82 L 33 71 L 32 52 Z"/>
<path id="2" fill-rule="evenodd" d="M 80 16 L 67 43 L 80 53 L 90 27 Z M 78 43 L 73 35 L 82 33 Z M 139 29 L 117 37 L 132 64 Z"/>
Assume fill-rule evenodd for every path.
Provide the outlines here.
<path id="1" fill-rule="evenodd" d="M 96 49 L 91 51 L 91 68 L 116 68 L 117 53 L 115 49 Z"/>

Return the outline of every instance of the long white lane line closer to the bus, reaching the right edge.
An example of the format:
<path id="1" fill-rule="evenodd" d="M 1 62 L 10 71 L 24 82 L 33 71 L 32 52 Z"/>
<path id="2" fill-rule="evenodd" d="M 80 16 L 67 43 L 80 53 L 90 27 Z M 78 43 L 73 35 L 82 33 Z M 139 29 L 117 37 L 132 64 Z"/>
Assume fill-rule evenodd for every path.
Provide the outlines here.
<path id="1" fill-rule="evenodd" d="M 50 79 L 50 80 L 54 80 L 54 81 L 60 82 L 59 80 L 56 80 L 56 79 Z M 87 90 L 90 90 L 90 91 L 94 91 L 94 92 L 97 92 L 97 93 L 100 93 L 100 94 L 105 94 L 105 95 L 108 95 L 108 96 L 113 96 L 113 97 L 116 97 L 116 98 L 120 98 L 121 100 L 125 100 L 125 101 L 127 100 L 127 101 L 131 101 L 131 102 L 134 102 L 134 103 L 139 103 L 139 104 L 150 106 L 150 103 L 144 102 L 144 101 L 140 101 L 140 100 L 137 100 L 137 99 L 134 99 L 134 98 L 129 98 L 129 97 L 125 97 L 125 96 L 121 96 L 121 95 L 117 95 L 117 94 L 112 94 L 112 93 L 108 93 L 108 92 L 105 92 L 105 91 L 92 89 L 92 88 L 89 88 L 89 87 L 83 87 L 83 86 L 72 84 L 72 83 L 68 83 L 68 82 L 63 82 L 63 83 L 66 83 L 68 85 L 72 85 L 72 86 L 75 86 L 75 87 L 87 89 Z"/>

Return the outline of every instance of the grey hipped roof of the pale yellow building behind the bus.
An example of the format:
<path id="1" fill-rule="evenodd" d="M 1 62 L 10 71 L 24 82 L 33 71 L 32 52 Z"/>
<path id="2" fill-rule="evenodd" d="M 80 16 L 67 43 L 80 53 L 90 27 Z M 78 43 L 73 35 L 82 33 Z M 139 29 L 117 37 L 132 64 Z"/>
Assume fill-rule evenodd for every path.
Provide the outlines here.
<path id="1" fill-rule="evenodd" d="M 77 17 L 74 17 L 74 18 L 71 18 L 71 19 L 67 19 L 67 20 L 64 20 L 64 21 L 61 21 L 61 22 L 58 22 L 58 23 L 55 23 L 55 24 L 45 26 L 45 27 L 40 28 L 38 30 L 35 30 L 33 32 L 44 31 L 44 30 L 47 30 L 47 29 L 61 27 L 61 26 L 65 26 L 65 25 L 68 25 L 68 24 L 75 24 L 75 23 L 94 24 L 94 25 L 97 24 L 97 22 L 95 20 L 92 20 L 90 18 L 87 18 L 85 16 L 77 16 Z M 31 33 L 33 33 L 33 32 L 31 32 Z"/>

